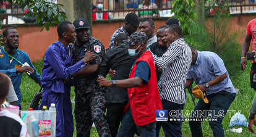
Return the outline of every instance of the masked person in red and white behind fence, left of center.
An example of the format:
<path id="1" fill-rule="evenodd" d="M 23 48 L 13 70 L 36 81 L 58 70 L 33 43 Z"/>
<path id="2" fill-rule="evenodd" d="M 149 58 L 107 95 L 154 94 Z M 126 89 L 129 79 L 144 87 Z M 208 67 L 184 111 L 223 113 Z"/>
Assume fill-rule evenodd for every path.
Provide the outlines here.
<path id="1" fill-rule="evenodd" d="M 96 9 L 93 9 L 93 11 L 104 11 L 104 5 L 103 5 L 103 0 L 98 0 Z M 108 12 L 96 12 L 92 13 L 92 19 L 93 20 L 107 20 L 107 19 L 113 19 L 111 13 Z"/>

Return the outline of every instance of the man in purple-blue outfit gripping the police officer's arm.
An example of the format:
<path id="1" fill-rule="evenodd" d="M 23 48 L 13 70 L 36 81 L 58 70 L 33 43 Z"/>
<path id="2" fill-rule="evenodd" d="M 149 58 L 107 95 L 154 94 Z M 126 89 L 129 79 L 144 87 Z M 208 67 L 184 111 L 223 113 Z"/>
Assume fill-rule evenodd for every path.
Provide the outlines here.
<path id="1" fill-rule="evenodd" d="M 88 51 L 82 60 L 73 64 L 71 45 L 75 41 L 75 27 L 71 22 L 61 22 L 57 28 L 59 39 L 51 44 L 45 52 L 42 73 L 43 99 L 39 109 L 56 104 L 56 136 L 73 136 L 74 122 L 70 101 L 71 77 L 75 72 L 95 59 Z"/>

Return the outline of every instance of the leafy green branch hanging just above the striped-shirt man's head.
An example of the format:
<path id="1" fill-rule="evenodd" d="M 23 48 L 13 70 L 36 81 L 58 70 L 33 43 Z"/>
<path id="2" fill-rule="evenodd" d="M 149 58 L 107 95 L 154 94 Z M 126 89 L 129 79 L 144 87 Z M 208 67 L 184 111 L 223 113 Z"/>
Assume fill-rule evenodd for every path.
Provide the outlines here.
<path id="1" fill-rule="evenodd" d="M 187 40 L 189 40 L 189 36 L 191 35 L 191 22 L 197 18 L 197 14 L 195 14 L 194 10 L 194 1 L 193 0 L 175 0 L 172 2 L 173 9 L 171 9 L 171 13 L 174 12 L 174 17 L 179 19 L 181 22 L 181 28 L 183 31 L 183 36 Z M 187 41 L 189 42 L 189 41 Z"/>

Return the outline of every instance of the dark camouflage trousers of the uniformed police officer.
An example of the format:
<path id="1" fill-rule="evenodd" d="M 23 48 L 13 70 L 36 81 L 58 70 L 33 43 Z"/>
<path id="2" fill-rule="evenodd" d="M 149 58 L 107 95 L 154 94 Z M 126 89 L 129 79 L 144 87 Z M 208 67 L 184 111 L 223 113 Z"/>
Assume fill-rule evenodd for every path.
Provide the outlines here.
<path id="1" fill-rule="evenodd" d="M 111 136 L 109 125 L 106 120 L 106 93 L 97 92 L 83 96 L 75 94 L 75 126 L 77 127 L 77 137 L 90 136 L 92 124 L 99 136 Z M 85 101 L 85 102 L 83 102 Z"/>

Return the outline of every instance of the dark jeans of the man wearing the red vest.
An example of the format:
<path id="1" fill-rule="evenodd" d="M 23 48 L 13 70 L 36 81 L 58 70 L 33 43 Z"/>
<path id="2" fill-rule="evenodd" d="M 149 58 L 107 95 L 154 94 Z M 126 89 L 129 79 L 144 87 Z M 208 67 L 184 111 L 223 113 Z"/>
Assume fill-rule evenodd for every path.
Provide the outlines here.
<path id="1" fill-rule="evenodd" d="M 147 128 L 151 127 L 151 128 Z M 140 136 L 145 137 L 155 137 L 156 135 L 156 123 L 150 123 L 148 125 L 137 126 L 134 122 L 134 118 L 132 118 L 132 111 L 129 109 L 124 118 L 122 119 L 121 127 L 117 133 L 118 137 L 128 137 L 134 136 L 137 131 L 140 131 Z"/>

